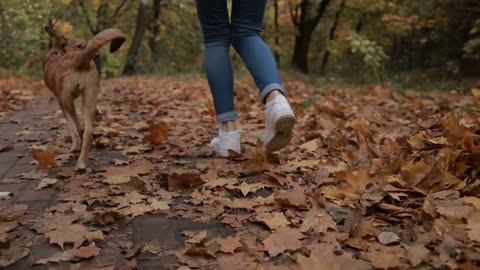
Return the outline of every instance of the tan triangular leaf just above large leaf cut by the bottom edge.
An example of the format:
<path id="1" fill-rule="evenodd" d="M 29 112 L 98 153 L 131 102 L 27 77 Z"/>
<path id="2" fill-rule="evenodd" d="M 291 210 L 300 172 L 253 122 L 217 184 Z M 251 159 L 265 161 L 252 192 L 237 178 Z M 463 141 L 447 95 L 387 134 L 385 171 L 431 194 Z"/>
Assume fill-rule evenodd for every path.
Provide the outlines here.
<path id="1" fill-rule="evenodd" d="M 325 211 L 314 205 L 305 215 L 300 230 L 303 233 L 326 233 L 328 229 L 337 230 L 337 225 L 332 217 Z"/>

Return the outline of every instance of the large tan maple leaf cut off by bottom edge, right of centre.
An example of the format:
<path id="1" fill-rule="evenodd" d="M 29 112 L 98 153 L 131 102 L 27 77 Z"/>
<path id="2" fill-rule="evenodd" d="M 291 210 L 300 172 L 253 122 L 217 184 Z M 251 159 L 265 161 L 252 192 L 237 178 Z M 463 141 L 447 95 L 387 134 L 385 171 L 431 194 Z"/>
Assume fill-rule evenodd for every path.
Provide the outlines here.
<path id="1" fill-rule="evenodd" d="M 317 244 L 309 257 L 297 255 L 300 270 L 370 270 L 372 266 L 365 261 L 356 260 L 348 252 L 337 252 L 330 244 Z"/>

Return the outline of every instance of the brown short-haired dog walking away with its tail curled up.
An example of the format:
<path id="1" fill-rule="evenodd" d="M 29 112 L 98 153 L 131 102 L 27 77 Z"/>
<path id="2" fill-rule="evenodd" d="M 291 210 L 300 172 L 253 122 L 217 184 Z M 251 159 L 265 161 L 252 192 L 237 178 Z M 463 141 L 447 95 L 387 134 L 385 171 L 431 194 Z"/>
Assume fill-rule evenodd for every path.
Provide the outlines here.
<path id="1" fill-rule="evenodd" d="M 67 120 L 72 137 L 73 151 L 80 151 L 76 169 L 87 167 L 92 145 L 92 129 L 100 90 L 100 78 L 93 62 L 98 50 L 110 43 L 110 52 L 118 50 L 125 42 L 125 35 L 118 29 L 106 29 L 94 36 L 88 43 L 80 38 L 67 38 L 50 26 L 45 31 L 53 39 L 53 47 L 43 62 L 44 80 L 47 87 L 58 99 Z M 82 97 L 84 128 L 78 120 L 74 101 Z M 82 136 L 82 137 L 81 137 Z"/>

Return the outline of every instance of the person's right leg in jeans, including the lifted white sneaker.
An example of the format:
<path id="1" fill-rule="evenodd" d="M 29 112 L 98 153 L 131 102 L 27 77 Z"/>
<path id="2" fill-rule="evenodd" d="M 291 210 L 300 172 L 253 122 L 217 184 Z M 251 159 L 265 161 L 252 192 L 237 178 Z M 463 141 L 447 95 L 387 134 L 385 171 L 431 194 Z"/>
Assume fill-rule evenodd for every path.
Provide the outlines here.
<path id="1" fill-rule="evenodd" d="M 233 0 L 231 37 L 266 103 L 264 143 L 268 151 L 285 147 L 291 139 L 295 115 L 285 97 L 270 48 L 260 37 L 266 0 Z"/>

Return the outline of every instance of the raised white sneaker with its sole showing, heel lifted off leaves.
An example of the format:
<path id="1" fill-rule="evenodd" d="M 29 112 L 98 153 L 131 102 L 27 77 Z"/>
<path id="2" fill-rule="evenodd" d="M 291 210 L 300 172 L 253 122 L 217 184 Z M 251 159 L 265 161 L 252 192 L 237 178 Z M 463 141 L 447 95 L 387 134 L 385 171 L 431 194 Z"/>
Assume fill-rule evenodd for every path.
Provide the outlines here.
<path id="1" fill-rule="evenodd" d="M 264 144 L 269 152 L 278 151 L 290 143 L 295 115 L 283 95 L 278 95 L 267 102 L 265 111 Z"/>

